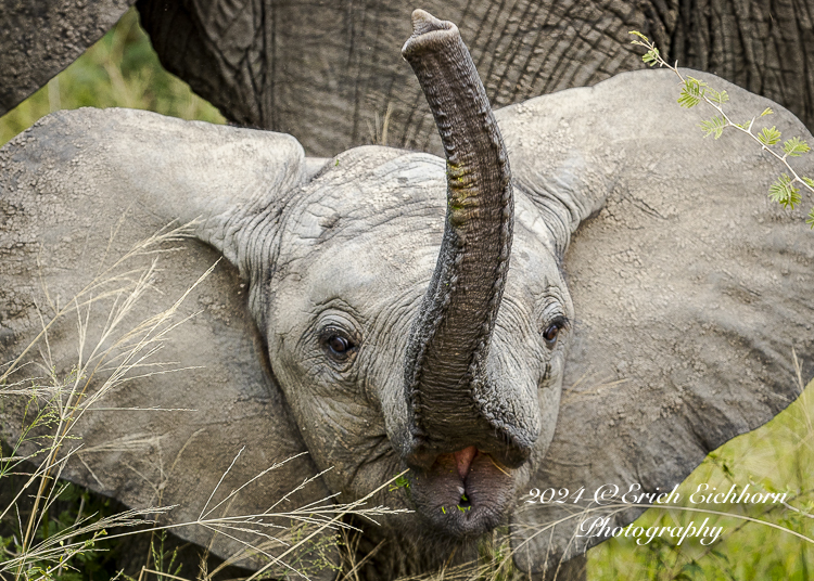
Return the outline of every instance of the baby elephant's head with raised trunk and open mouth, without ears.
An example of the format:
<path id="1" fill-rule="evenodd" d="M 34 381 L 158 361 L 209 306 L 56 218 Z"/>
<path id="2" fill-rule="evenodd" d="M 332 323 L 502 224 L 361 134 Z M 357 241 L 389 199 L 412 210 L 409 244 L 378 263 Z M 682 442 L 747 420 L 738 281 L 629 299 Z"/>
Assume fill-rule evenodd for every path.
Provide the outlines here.
<path id="1" fill-rule="evenodd" d="M 414 25 L 404 53 L 446 168 L 383 149 L 340 156 L 281 217 L 287 260 L 255 305 L 331 488 L 359 495 L 408 466 L 416 517 L 472 538 L 505 519 L 551 439 L 572 308 L 546 238 L 521 231 L 525 259 L 510 266 L 509 160 L 455 25 L 420 11 Z"/>

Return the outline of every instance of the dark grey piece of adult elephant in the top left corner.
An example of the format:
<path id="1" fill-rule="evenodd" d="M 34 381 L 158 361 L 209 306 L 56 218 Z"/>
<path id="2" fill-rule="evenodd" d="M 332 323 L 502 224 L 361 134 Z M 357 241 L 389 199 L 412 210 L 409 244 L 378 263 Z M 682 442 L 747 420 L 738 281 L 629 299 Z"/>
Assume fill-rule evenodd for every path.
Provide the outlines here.
<path id="1" fill-rule="evenodd" d="M 0 0 L 0 115 L 102 38 L 136 0 Z"/>

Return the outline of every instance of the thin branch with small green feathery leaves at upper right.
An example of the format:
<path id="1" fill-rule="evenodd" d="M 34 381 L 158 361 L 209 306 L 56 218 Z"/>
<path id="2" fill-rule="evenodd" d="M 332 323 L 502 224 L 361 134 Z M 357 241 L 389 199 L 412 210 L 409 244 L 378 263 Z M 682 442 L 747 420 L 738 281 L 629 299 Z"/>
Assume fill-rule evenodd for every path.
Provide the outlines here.
<path id="1" fill-rule="evenodd" d="M 701 130 L 705 138 L 713 135 L 714 139 L 718 139 L 724 129 L 732 127 L 737 131 L 746 133 L 753 141 L 755 141 L 761 150 L 768 152 L 777 160 L 786 166 L 787 172 L 781 173 L 768 188 L 768 197 L 777 202 L 784 208 L 794 209 L 794 206 L 802 202 L 800 195 L 800 188 L 809 190 L 814 194 L 814 180 L 805 176 L 800 176 L 794 168 L 789 165 L 789 157 L 799 157 L 811 151 L 811 146 L 798 137 L 793 137 L 783 143 L 783 135 L 777 127 L 764 127 L 760 132 L 752 132 L 754 121 L 758 117 L 765 117 L 772 115 L 774 112 L 771 107 L 763 109 L 758 117 L 752 117 L 742 124 L 736 124 L 729 118 L 724 112 L 724 104 L 729 101 L 729 95 L 726 91 L 716 91 L 704 81 L 695 77 L 684 76 L 678 70 L 678 63 L 674 65 L 667 63 L 659 52 L 659 49 L 653 44 L 649 38 L 637 30 L 632 30 L 629 34 L 637 37 L 631 43 L 644 47 L 647 52 L 641 56 L 641 60 L 649 66 L 659 65 L 660 67 L 666 67 L 675 73 L 682 80 L 682 92 L 678 95 L 678 104 L 683 107 L 691 108 L 701 102 L 707 103 L 709 106 L 717 112 L 717 115 L 711 119 L 703 120 L 700 124 Z M 805 223 L 810 224 L 814 229 L 814 207 L 809 211 L 809 216 Z"/>

